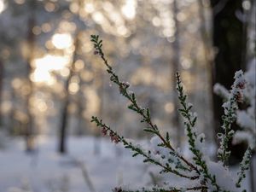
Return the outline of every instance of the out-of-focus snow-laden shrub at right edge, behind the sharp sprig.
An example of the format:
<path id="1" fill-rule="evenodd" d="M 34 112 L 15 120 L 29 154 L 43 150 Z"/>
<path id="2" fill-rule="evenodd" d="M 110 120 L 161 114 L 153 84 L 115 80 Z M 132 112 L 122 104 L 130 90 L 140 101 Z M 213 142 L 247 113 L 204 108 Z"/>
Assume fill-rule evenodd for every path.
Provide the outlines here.
<path id="1" fill-rule="evenodd" d="M 233 137 L 233 143 L 247 142 L 248 146 L 256 150 L 256 62 L 255 59 L 251 66 L 244 74 L 247 85 L 243 91 L 244 100 L 247 104 L 246 109 L 236 108 L 236 123 L 241 126 L 241 130 L 236 131 Z M 230 92 L 224 88 L 221 84 L 214 85 L 214 92 L 224 98 L 224 101 L 228 100 Z"/>

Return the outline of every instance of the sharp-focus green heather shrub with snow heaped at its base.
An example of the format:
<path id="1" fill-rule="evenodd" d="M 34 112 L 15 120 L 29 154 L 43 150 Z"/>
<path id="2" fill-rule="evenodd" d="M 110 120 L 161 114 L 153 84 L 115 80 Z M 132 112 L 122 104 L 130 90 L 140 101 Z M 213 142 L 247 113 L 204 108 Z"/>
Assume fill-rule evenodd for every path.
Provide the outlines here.
<path id="1" fill-rule="evenodd" d="M 185 132 L 189 141 L 189 150 L 193 154 L 192 159 L 184 157 L 183 153 L 172 145 L 169 133 L 161 133 L 158 126 L 152 122 L 149 108 L 142 108 L 137 103 L 136 95 L 129 90 L 130 84 L 123 82 L 113 71 L 113 67 L 108 64 L 104 53 L 102 52 L 102 40 L 98 36 L 92 35 L 91 41 L 95 47 L 95 54 L 102 58 L 107 72 L 110 74 L 110 80 L 117 84 L 119 93 L 125 96 L 130 102 L 128 108 L 136 112 L 141 117 L 141 122 L 145 123 L 147 131 L 154 135 L 151 139 L 151 145 L 143 147 L 136 143 L 131 143 L 113 131 L 113 129 L 102 122 L 102 119 L 92 117 L 91 121 L 95 122 L 102 130 L 102 134 L 109 136 L 113 143 L 122 143 L 125 148 L 132 151 L 133 156 L 140 155 L 145 163 L 151 163 L 160 168 L 160 174 L 167 177 L 173 174 L 177 176 L 176 184 L 172 184 L 172 179 L 163 183 L 161 186 L 154 186 L 153 189 L 132 190 L 125 188 L 115 188 L 114 192 L 125 191 L 144 191 L 144 192 L 171 192 L 171 191 L 242 191 L 241 182 L 246 177 L 245 171 L 248 169 L 251 157 L 251 148 L 248 148 L 241 161 L 240 171 L 237 177 L 232 177 L 226 161 L 229 159 L 230 151 L 228 142 L 234 135 L 231 130 L 231 124 L 236 120 L 237 102 L 241 102 L 243 90 L 245 89 L 245 79 L 241 71 L 236 72 L 235 82 L 231 87 L 227 101 L 224 102 L 224 117 L 222 129 L 224 133 L 219 133 L 220 147 L 218 148 L 218 162 L 210 160 L 207 154 L 204 154 L 205 136 L 196 129 L 196 113 L 192 112 L 192 104 L 187 102 L 187 96 L 183 92 L 183 84 L 180 75 L 177 73 L 177 92 L 181 108 L 179 112 L 183 116 Z M 243 190 L 244 191 L 244 190 Z"/>

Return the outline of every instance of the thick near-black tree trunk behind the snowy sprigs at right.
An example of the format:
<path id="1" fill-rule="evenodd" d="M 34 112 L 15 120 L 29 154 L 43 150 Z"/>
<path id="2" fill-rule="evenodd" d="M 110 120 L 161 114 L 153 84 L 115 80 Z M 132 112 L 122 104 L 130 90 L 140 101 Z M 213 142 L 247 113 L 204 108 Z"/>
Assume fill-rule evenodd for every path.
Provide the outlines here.
<path id="1" fill-rule="evenodd" d="M 212 84 L 223 84 L 230 90 L 234 82 L 236 71 L 245 69 L 244 36 L 246 32 L 243 23 L 236 17 L 238 11 L 242 12 L 241 0 L 211 0 L 212 4 L 212 23 L 213 23 L 213 46 L 216 49 L 215 65 L 212 67 Z M 223 115 L 222 99 L 213 94 L 213 111 L 215 131 L 219 132 Z M 237 129 L 237 126 L 234 126 Z M 231 147 L 230 163 L 241 160 L 243 146 Z"/>

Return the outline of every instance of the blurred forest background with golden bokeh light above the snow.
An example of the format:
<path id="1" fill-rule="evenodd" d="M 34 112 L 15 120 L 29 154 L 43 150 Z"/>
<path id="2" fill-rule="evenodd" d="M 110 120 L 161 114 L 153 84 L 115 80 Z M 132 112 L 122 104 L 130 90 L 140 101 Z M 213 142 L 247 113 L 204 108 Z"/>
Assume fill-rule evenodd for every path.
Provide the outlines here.
<path id="1" fill-rule="evenodd" d="M 177 144 L 180 71 L 199 129 L 214 142 L 222 109 L 212 84 L 230 88 L 236 70 L 255 62 L 255 1 L 1 0 L 2 135 L 23 136 L 27 151 L 38 136 L 56 137 L 66 153 L 67 136 L 100 136 L 90 123 L 97 115 L 125 137 L 145 137 L 93 54 L 91 34 Z"/>

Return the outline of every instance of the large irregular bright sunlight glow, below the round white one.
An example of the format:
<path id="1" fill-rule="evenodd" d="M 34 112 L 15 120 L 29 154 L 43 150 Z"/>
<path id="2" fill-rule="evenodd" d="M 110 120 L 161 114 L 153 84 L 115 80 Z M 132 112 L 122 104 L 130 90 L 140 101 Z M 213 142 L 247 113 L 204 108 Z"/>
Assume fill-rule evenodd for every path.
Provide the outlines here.
<path id="1" fill-rule="evenodd" d="M 68 64 L 68 58 L 57 55 L 45 55 L 32 62 L 35 67 L 31 75 L 33 82 L 45 82 L 47 84 L 54 84 L 55 79 L 52 77 L 52 71 L 61 71 Z"/>

